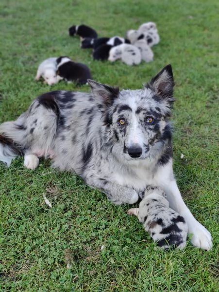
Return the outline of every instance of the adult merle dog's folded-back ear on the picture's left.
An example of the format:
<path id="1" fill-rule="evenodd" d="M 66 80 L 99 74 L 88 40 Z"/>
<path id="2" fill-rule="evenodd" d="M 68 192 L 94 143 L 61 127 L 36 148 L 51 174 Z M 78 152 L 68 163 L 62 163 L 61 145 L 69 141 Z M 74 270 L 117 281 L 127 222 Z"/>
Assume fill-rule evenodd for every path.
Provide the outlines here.
<path id="1" fill-rule="evenodd" d="M 118 97 L 118 87 L 110 87 L 106 84 L 101 84 L 91 79 L 88 79 L 87 82 L 89 83 L 92 93 L 98 103 L 101 103 L 106 107 L 112 105 L 114 100 Z"/>

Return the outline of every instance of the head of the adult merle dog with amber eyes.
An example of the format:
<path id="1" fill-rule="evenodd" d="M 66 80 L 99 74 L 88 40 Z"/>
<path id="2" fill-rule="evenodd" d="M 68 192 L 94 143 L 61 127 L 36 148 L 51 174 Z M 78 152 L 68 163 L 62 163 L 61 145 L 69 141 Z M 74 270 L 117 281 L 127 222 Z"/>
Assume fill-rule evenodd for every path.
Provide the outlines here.
<path id="1" fill-rule="evenodd" d="M 88 80 L 102 117 L 112 151 L 119 160 L 135 163 L 149 159 L 167 163 L 172 155 L 169 117 L 173 105 L 171 65 L 140 90 L 122 90 Z"/>

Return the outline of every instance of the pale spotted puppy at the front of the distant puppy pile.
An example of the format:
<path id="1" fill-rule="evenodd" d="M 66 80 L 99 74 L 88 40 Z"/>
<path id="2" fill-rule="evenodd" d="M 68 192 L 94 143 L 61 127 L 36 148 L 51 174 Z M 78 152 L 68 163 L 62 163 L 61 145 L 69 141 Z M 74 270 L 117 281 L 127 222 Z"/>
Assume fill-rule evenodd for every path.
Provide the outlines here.
<path id="1" fill-rule="evenodd" d="M 141 62 L 141 53 L 136 46 L 122 43 L 112 47 L 109 52 L 109 61 L 114 62 L 118 59 L 121 59 L 127 65 L 137 65 Z"/>

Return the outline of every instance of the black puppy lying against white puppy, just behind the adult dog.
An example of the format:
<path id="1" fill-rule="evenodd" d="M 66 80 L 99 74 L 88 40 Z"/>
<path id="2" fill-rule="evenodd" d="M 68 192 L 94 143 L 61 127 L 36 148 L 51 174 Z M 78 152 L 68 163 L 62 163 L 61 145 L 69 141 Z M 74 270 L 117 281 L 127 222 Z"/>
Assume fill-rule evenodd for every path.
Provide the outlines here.
<path id="1" fill-rule="evenodd" d="M 59 79 L 77 84 L 86 84 L 87 79 L 92 79 L 90 69 L 85 64 L 75 63 L 66 56 L 57 58 L 57 74 Z"/>

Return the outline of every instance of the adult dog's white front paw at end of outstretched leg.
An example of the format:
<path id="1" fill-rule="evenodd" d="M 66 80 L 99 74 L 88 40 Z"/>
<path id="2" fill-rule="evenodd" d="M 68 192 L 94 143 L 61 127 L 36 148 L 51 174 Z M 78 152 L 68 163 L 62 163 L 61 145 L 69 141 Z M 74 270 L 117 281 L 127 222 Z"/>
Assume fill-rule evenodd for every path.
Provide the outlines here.
<path id="1" fill-rule="evenodd" d="M 201 248 L 202 250 L 210 251 L 212 248 L 212 236 L 210 232 L 197 222 L 191 229 L 189 233 L 193 234 L 191 237 L 191 243 L 194 246 Z"/>

